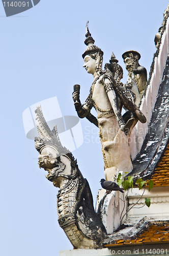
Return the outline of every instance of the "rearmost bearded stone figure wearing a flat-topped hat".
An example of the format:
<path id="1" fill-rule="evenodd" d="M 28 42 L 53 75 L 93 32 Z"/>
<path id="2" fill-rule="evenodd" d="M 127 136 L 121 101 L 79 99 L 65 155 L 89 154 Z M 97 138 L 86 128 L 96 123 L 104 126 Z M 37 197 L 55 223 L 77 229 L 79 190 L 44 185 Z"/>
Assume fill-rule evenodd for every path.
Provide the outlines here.
<path id="1" fill-rule="evenodd" d="M 129 72 L 126 87 L 136 95 L 135 104 L 138 106 L 140 99 L 146 89 L 147 83 L 147 70 L 140 66 L 138 60 L 140 54 L 136 51 L 127 51 L 122 55 L 126 64 L 126 69 Z"/>

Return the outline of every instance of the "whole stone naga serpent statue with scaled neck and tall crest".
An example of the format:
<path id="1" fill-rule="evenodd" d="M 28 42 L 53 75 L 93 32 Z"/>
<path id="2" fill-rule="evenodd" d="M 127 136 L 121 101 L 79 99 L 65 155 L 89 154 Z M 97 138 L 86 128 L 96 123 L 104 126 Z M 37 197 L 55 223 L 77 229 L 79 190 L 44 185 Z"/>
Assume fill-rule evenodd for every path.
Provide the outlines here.
<path id="1" fill-rule="evenodd" d="M 80 173 L 72 153 L 62 146 L 57 127 L 50 131 L 41 106 L 35 112 L 40 135 L 35 137 L 39 167 L 47 170 L 46 178 L 60 188 L 57 195 L 58 222 L 74 248 L 102 248 L 106 230 L 94 210 L 88 181 Z"/>

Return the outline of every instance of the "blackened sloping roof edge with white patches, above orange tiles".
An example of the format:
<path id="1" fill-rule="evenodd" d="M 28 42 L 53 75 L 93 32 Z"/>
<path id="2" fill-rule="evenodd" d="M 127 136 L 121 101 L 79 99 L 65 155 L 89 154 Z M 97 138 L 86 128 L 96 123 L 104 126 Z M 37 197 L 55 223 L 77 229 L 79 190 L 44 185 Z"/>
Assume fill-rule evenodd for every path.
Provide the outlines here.
<path id="1" fill-rule="evenodd" d="M 168 83 L 169 58 L 167 58 L 166 61 L 163 79 L 159 87 L 158 96 L 148 126 L 147 135 L 143 142 L 140 153 L 133 160 L 133 170 L 129 174 L 130 176 L 132 175 L 135 178 L 143 177 L 144 179 L 150 179 L 155 173 L 155 169 L 157 171 L 158 163 L 162 160 L 161 158 L 163 157 L 163 154 L 167 148 L 169 142 Z M 161 165 L 159 167 L 161 167 Z"/>

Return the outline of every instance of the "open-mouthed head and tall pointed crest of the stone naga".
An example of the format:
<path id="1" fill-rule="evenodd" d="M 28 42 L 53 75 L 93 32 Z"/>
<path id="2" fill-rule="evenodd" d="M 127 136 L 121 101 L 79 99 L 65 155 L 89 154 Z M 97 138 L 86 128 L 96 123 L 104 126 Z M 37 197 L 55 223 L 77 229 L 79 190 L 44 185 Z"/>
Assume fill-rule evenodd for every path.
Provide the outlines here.
<path id="1" fill-rule="evenodd" d="M 65 179 L 75 179 L 78 174 L 77 161 L 71 152 L 63 147 L 58 136 L 57 126 L 50 131 L 41 105 L 36 109 L 37 128 L 40 137 L 35 137 L 35 147 L 39 152 L 39 167 L 47 170 L 46 178 L 56 187 L 61 187 Z"/>

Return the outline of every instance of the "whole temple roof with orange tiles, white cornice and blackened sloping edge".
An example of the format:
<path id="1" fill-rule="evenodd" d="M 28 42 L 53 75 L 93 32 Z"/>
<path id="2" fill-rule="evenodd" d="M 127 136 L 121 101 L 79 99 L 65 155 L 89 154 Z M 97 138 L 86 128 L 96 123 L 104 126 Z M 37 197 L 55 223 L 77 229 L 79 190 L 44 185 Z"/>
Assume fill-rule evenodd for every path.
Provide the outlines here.
<path id="1" fill-rule="evenodd" d="M 128 206 L 132 205 L 133 207 L 135 203 L 143 204 L 143 206 L 130 207 L 132 209 L 127 211 L 127 219 L 104 240 L 104 247 L 107 248 L 169 243 L 168 188 L 164 187 L 169 185 L 168 10 L 169 5 L 164 13 L 161 39 L 154 54 L 147 88 L 139 105 L 140 110 L 147 115 L 148 122 L 144 124 L 145 126 L 137 123 L 135 129 L 137 137 L 134 136 L 137 138 L 135 140 L 137 143 L 136 154 L 139 153 L 133 155 L 133 158 L 135 157 L 133 170 L 128 174 L 135 180 L 143 178 L 153 181 L 153 189 L 149 194 L 146 188 L 147 194 L 145 195 L 152 198 L 152 209 L 139 209 L 144 206 L 145 198 L 142 198 L 143 202 L 140 200 L 138 203 L 137 199 L 143 196 L 139 194 L 138 189 L 133 192 L 133 194 L 135 193 L 133 196 L 128 193 Z M 162 35 L 164 36 L 162 37 Z M 138 131 L 142 128 L 144 130 L 143 144 L 138 143 Z M 131 144 L 131 146 L 133 145 Z M 135 153 L 134 150 L 133 152 Z M 163 187 L 158 188 L 160 186 Z"/>

